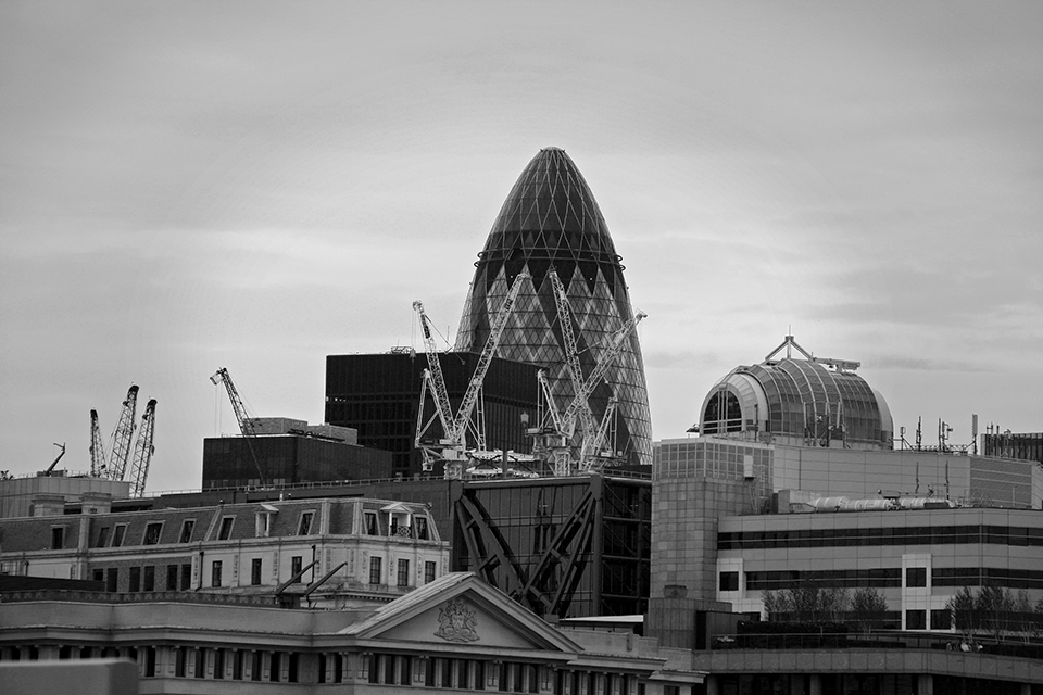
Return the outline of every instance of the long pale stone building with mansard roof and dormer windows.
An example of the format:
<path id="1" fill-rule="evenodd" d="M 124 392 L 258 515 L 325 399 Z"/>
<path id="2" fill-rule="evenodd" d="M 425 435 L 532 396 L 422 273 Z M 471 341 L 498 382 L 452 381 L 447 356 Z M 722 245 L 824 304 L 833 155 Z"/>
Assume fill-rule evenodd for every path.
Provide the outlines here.
<path id="1" fill-rule="evenodd" d="M 338 608 L 448 571 L 426 505 L 365 498 L 218 504 L 0 520 L 0 572 L 112 593 L 202 592 Z"/>

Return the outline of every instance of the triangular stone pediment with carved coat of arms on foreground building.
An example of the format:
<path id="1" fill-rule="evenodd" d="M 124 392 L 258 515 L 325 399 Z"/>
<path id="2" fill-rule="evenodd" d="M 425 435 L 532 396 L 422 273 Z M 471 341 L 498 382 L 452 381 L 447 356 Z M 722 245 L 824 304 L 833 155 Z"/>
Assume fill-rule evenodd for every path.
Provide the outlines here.
<path id="1" fill-rule="evenodd" d="M 365 640 L 427 643 L 432 647 L 582 652 L 571 640 L 470 572 L 447 574 L 342 632 Z"/>

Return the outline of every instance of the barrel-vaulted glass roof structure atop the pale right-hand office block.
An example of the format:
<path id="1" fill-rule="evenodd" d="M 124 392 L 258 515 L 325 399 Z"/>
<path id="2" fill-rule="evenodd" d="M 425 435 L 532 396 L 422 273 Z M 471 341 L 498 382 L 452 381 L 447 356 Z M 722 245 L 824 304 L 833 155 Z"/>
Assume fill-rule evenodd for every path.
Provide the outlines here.
<path id="1" fill-rule="evenodd" d="M 804 446 L 890 448 L 891 410 L 853 366 L 788 356 L 736 367 L 703 400 L 699 431 Z"/>

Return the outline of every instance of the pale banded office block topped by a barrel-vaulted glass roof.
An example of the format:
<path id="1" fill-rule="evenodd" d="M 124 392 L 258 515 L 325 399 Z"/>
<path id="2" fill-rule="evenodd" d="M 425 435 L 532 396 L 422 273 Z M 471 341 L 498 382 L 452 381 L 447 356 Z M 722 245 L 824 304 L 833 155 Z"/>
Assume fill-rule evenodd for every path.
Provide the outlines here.
<path id="1" fill-rule="evenodd" d="M 890 410 L 857 366 L 787 337 L 711 389 L 700 437 L 655 443 L 651 634 L 691 643 L 721 606 L 759 615 L 764 591 L 808 582 L 879 587 L 904 629 L 951 630 L 962 587 L 1043 596 L 1043 467 L 891 448 Z"/>

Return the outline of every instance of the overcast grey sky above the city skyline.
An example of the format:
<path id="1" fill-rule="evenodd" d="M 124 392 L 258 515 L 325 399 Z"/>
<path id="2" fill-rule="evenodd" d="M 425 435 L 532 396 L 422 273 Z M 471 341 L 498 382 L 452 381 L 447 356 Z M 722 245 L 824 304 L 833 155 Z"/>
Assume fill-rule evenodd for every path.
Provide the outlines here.
<path id="1" fill-rule="evenodd" d="M 0 3 L 0 469 L 90 467 L 131 383 L 150 491 L 330 354 L 452 342 L 542 147 L 636 308 L 655 439 L 786 334 L 895 429 L 1043 431 L 1043 3 Z M 108 443 L 108 441 L 106 441 Z"/>

